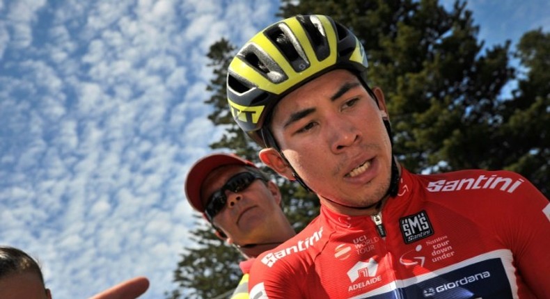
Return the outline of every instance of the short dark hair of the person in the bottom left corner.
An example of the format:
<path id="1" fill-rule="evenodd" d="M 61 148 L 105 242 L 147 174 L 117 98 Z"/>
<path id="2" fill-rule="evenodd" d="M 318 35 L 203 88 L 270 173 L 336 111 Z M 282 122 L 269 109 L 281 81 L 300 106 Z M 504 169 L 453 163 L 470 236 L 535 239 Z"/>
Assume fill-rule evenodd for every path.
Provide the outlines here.
<path id="1" fill-rule="evenodd" d="M 45 286 L 42 270 L 38 262 L 23 250 L 10 246 L 0 246 L 0 279 L 12 274 L 36 273 Z"/>

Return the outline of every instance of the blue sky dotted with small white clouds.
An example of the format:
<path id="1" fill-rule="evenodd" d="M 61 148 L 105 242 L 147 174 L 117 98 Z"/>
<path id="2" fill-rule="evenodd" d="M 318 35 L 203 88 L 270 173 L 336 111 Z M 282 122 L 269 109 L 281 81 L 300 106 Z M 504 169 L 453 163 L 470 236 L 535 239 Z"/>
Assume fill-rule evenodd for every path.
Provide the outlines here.
<path id="1" fill-rule="evenodd" d="M 443 1 L 442 3 L 452 3 Z M 542 27 L 550 1 L 470 1 L 486 45 Z M 173 289 L 189 166 L 221 131 L 205 57 L 278 1 L 0 0 L 0 244 L 38 258 L 54 298 L 146 275 Z"/>

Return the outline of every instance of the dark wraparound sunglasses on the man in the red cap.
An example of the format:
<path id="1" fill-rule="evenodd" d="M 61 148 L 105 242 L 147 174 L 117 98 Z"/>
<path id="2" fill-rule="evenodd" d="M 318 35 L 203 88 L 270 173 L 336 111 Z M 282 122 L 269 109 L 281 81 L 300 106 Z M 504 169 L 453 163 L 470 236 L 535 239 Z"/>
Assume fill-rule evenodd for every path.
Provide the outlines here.
<path id="1" fill-rule="evenodd" d="M 254 172 L 240 172 L 237 173 L 237 175 L 230 177 L 226 181 L 226 184 L 223 184 L 223 186 L 218 191 L 214 192 L 212 196 L 210 196 L 210 200 L 208 200 L 208 204 L 205 208 L 205 214 L 208 220 L 212 222 L 214 216 L 216 216 L 223 209 L 223 207 L 226 207 L 226 191 L 239 193 L 244 189 L 249 188 L 249 186 L 256 179 L 266 181 L 264 177 Z"/>

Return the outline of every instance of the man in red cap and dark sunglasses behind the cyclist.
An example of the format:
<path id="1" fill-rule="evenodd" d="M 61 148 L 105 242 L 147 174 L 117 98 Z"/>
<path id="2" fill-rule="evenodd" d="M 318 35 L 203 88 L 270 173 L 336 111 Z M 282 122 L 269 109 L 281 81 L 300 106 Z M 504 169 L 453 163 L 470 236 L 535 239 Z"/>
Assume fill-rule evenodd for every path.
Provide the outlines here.
<path id="1" fill-rule="evenodd" d="M 232 298 L 248 297 L 249 268 L 258 254 L 296 233 L 281 209 L 281 192 L 254 163 L 235 154 L 204 156 L 189 170 L 185 194 L 217 236 L 247 258 Z"/>

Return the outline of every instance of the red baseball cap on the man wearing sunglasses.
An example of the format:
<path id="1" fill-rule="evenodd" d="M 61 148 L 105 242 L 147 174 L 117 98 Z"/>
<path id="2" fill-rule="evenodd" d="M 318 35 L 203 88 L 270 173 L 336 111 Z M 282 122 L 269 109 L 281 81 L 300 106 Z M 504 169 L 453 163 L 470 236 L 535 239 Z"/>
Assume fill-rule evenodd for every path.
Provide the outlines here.
<path id="1" fill-rule="evenodd" d="M 191 170 L 189 170 L 187 179 L 185 180 L 185 196 L 191 207 L 196 209 L 196 211 L 201 213 L 205 211 L 205 207 L 201 201 L 201 186 L 203 186 L 203 181 L 210 175 L 212 170 L 224 165 L 246 165 L 258 168 L 251 161 L 242 159 L 236 154 L 209 154 L 196 161 L 191 166 Z"/>

